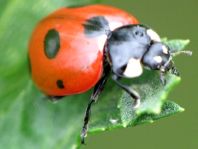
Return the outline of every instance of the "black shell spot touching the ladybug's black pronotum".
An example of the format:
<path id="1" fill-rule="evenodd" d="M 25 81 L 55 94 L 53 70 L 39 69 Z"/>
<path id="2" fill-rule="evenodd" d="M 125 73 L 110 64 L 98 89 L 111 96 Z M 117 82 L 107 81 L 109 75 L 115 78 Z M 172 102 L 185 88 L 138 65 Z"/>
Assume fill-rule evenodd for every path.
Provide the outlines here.
<path id="1" fill-rule="evenodd" d="M 96 16 L 88 19 L 84 24 L 85 34 L 89 37 L 96 37 L 102 34 L 109 34 L 109 23 L 103 16 Z"/>

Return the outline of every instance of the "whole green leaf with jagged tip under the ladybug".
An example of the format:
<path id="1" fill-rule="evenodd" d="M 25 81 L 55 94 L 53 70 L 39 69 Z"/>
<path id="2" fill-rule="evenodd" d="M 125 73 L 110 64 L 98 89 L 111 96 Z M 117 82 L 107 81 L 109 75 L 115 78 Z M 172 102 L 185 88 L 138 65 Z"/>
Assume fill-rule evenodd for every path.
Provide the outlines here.
<path id="1" fill-rule="evenodd" d="M 27 44 L 35 24 L 58 7 L 89 0 L 1 0 L 0 2 L 0 144 L 4 149 L 74 149 L 80 146 L 84 111 L 91 91 L 50 102 L 37 90 L 28 71 Z M 176 50 L 187 42 L 165 41 Z M 141 95 L 142 104 L 133 110 L 133 100 L 109 80 L 94 105 L 89 132 L 99 132 L 150 123 L 183 111 L 166 101 L 180 78 L 167 75 L 167 85 L 157 72 L 145 71 L 140 78 L 124 80 Z"/>

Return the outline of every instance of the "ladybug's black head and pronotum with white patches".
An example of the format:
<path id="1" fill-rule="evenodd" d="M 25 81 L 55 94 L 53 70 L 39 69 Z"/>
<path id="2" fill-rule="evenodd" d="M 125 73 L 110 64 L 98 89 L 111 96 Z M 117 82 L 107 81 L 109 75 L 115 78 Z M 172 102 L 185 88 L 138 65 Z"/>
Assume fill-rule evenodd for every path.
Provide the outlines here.
<path id="1" fill-rule="evenodd" d="M 179 75 L 172 61 L 177 53 L 171 53 L 160 36 L 144 25 L 127 25 L 112 31 L 105 52 L 113 72 L 120 77 L 138 77 L 142 74 L 142 66 L 162 73 L 170 70 L 172 74 Z"/>

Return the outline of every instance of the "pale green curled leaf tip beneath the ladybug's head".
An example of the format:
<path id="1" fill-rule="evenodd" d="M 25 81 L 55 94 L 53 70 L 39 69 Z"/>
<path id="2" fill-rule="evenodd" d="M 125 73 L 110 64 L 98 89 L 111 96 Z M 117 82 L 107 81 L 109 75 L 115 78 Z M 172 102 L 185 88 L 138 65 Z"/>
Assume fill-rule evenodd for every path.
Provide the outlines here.
<path id="1" fill-rule="evenodd" d="M 132 102 L 128 94 L 124 94 L 120 100 L 121 119 L 124 126 L 133 124 L 137 117 L 144 113 L 159 114 L 161 112 L 161 106 L 167 97 L 168 92 L 172 89 L 175 83 L 180 81 L 180 78 L 169 75 L 167 76 L 167 85 L 161 85 L 159 80 L 159 74 L 153 74 L 148 77 L 137 81 L 138 86 L 135 87 L 140 93 L 142 102 L 138 109 L 133 110 Z"/>

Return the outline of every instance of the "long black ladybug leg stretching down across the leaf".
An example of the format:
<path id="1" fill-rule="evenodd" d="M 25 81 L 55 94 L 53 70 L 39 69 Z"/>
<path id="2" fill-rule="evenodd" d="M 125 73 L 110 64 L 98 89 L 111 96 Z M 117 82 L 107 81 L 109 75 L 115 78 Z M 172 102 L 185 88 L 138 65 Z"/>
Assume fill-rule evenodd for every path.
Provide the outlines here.
<path id="1" fill-rule="evenodd" d="M 105 63 L 103 76 L 98 81 L 98 83 L 95 85 L 93 93 L 90 98 L 90 101 L 87 105 L 86 112 L 85 112 L 84 125 L 83 125 L 82 132 L 81 132 L 81 143 L 82 144 L 85 144 L 85 137 L 87 135 L 88 123 L 89 123 L 89 119 L 91 116 L 91 106 L 93 103 L 95 103 L 97 101 L 99 94 L 102 92 L 104 85 L 107 82 L 110 71 L 111 71 L 110 65 L 108 63 Z"/>

